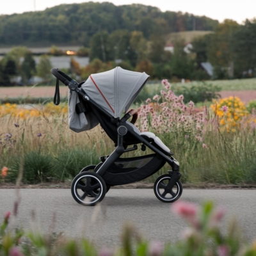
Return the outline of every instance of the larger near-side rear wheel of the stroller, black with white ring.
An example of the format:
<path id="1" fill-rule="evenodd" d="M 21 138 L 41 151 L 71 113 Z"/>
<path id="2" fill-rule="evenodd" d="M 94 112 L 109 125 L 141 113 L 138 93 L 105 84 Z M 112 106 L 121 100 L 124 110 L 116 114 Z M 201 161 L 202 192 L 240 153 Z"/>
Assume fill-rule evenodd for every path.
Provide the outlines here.
<path id="1" fill-rule="evenodd" d="M 106 195 L 106 183 L 95 172 L 82 172 L 76 175 L 71 184 L 71 193 L 78 204 L 92 206 Z M 90 196 L 88 196 L 90 195 Z"/>

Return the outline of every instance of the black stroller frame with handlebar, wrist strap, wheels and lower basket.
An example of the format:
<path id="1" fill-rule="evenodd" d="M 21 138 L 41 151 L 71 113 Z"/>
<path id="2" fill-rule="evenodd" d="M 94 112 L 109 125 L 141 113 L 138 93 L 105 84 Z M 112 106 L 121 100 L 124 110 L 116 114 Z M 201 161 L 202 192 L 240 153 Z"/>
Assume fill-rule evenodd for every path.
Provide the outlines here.
<path id="1" fill-rule="evenodd" d="M 77 81 L 57 68 L 52 68 L 51 72 L 57 78 L 54 104 L 60 103 L 58 85 L 58 80 L 60 80 L 72 92 L 79 95 L 79 99 L 84 103 L 87 111 L 90 109 L 93 115 L 97 117 L 104 131 L 115 142 L 116 147 L 109 156 L 100 157 L 101 162 L 99 164 L 86 166 L 74 178 L 71 192 L 76 202 L 83 205 L 95 205 L 104 198 L 111 186 L 143 180 L 160 170 L 165 163 L 172 167 L 172 171 L 168 171 L 168 174 L 161 175 L 156 180 L 154 193 L 162 202 L 178 200 L 182 194 L 179 162 L 173 157 L 172 152 L 165 152 L 163 148 L 154 143 L 152 138 L 134 131 L 134 125 L 128 121 L 134 112 L 129 111 L 122 118 L 114 118 L 90 99 L 88 94 L 79 88 L 80 84 Z M 125 152 L 138 150 L 137 144 L 139 143 L 142 144 L 141 150 L 144 151 L 146 146 L 155 153 L 147 156 L 121 158 Z M 133 145 L 133 147 L 128 148 L 129 145 Z"/>

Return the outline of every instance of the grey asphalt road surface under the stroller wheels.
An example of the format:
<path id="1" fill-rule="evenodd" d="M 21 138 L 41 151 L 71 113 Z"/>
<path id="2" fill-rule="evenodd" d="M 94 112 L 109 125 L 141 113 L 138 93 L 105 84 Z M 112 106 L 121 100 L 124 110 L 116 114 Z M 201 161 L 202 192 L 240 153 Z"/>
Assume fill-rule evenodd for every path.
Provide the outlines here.
<path id="1" fill-rule="evenodd" d="M 6 211 L 13 211 L 17 195 L 15 189 L 0 189 L 0 223 Z M 20 189 L 17 220 L 30 228 L 36 223 L 44 232 L 64 232 L 71 237 L 87 237 L 95 244 L 120 244 L 120 233 L 125 221 L 134 222 L 138 230 L 150 240 L 177 241 L 186 222 L 173 216 L 170 204 L 164 204 L 154 195 L 153 189 L 110 189 L 100 205 L 85 207 L 72 198 L 70 189 Z M 241 239 L 256 239 L 256 189 L 184 189 L 179 200 L 201 204 L 213 200 L 224 206 L 228 220 L 236 217 L 241 227 Z M 34 224 L 33 224 L 34 223 Z"/>

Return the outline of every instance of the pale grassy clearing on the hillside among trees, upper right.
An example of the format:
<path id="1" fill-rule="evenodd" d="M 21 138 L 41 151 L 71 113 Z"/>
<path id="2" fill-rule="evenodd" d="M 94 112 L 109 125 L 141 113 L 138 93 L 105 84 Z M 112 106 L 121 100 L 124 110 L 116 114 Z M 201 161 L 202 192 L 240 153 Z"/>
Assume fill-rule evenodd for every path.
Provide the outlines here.
<path id="1" fill-rule="evenodd" d="M 212 31 L 181 31 L 181 32 L 174 32 L 170 33 L 167 36 L 167 44 L 175 42 L 175 40 L 184 40 L 186 43 L 192 42 L 194 38 L 198 36 L 204 36 L 209 33 L 213 33 Z"/>

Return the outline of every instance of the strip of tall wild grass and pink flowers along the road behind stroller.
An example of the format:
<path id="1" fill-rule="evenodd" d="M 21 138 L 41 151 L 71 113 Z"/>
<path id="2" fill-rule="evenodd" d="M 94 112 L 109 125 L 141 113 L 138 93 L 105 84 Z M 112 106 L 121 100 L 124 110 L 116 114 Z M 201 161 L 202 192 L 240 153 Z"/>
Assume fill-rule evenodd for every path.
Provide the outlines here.
<path id="1" fill-rule="evenodd" d="M 175 154 L 182 182 L 256 183 L 256 125 L 239 119 L 236 129 L 229 131 L 211 109 L 195 108 L 193 102 L 185 105 L 182 97 L 168 90 L 141 106 L 138 125 L 141 131 L 156 133 Z M 0 181 L 14 181 L 20 164 L 26 183 L 72 179 L 84 166 L 98 164 L 100 156 L 113 152 L 114 143 L 100 126 L 76 134 L 68 129 L 67 113 L 57 110 L 23 118 L 8 113 L 0 118 L 0 168 L 8 168 Z M 137 150 L 124 156 L 150 153 Z M 147 181 L 154 182 L 167 170 L 168 164 Z"/>

